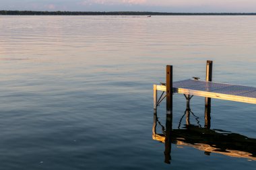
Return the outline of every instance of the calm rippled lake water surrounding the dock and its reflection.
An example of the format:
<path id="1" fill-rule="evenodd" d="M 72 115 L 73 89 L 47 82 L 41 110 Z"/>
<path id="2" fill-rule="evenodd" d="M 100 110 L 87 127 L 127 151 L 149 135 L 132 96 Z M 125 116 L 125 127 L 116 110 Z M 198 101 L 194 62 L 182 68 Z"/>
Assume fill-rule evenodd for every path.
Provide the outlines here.
<path id="1" fill-rule="evenodd" d="M 174 81 L 205 79 L 214 60 L 213 81 L 256 86 L 255 16 L 0 16 L 0 30 L 1 169 L 255 169 L 178 144 L 166 164 L 152 139 L 166 65 Z M 186 100 L 173 99 L 177 129 Z M 211 129 L 256 138 L 255 109 L 212 99 Z M 203 126 L 203 97 L 191 111 Z"/>

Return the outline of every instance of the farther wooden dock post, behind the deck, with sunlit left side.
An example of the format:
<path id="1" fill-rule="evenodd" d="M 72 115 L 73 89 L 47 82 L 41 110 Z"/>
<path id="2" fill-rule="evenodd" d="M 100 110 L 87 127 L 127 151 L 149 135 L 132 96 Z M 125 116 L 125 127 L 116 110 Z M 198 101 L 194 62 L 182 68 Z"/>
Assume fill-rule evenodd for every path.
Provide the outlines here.
<path id="1" fill-rule="evenodd" d="M 205 81 L 212 81 L 212 60 L 206 62 L 206 77 Z M 211 127 L 211 98 L 205 97 L 205 128 Z"/>

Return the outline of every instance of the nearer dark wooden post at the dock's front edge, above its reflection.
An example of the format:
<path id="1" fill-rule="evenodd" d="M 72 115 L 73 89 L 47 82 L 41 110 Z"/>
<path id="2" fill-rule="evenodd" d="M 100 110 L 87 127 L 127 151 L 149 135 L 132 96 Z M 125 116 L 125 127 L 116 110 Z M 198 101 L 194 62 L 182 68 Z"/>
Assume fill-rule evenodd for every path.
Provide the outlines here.
<path id="1" fill-rule="evenodd" d="M 166 65 L 166 114 L 172 114 L 172 66 Z"/>

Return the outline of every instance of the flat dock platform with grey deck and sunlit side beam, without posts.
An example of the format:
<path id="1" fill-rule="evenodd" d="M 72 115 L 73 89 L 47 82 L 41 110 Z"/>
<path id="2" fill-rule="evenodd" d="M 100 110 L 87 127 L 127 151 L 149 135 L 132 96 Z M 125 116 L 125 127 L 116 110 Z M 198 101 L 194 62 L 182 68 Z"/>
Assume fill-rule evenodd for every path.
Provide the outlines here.
<path id="1" fill-rule="evenodd" d="M 173 82 L 172 86 L 173 93 L 256 104 L 256 87 L 193 79 Z M 166 91 L 166 85 L 156 85 L 156 90 Z"/>

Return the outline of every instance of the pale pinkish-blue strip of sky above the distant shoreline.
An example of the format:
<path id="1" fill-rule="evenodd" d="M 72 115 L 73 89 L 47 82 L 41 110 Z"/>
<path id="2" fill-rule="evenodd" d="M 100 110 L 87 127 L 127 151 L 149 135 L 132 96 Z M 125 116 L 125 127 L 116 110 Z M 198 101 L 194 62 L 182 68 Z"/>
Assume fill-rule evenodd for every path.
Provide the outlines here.
<path id="1" fill-rule="evenodd" d="M 0 10 L 256 12 L 256 0 L 0 0 Z"/>

